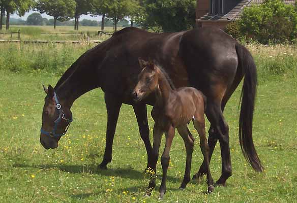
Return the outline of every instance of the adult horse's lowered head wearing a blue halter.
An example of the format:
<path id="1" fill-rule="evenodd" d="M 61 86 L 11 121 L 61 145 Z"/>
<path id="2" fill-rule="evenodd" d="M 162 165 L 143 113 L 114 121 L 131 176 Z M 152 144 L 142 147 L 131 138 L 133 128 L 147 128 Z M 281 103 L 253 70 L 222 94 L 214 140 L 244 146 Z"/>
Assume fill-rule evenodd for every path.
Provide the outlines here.
<path id="1" fill-rule="evenodd" d="M 54 149 L 72 122 L 72 113 L 60 103 L 52 86 L 48 85 L 47 89 L 43 86 L 43 89 L 47 96 L 42 111 L 40 143 L 45 149 Z"/>

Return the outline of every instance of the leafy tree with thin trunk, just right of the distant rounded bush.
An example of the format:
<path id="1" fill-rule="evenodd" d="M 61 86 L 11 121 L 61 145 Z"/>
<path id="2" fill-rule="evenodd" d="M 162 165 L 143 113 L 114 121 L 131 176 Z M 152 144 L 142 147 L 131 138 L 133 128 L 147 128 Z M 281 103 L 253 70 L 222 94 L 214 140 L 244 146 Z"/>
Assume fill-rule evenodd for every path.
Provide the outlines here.
<path id="1" fill-rule="evenodd" d="M 46 13 L 53 17 L 54 29 L 57 20 L 63 22 L 74 16 L 75 7 L 74 0 L 39 0 L 36 6 L 40 13 Z"/>

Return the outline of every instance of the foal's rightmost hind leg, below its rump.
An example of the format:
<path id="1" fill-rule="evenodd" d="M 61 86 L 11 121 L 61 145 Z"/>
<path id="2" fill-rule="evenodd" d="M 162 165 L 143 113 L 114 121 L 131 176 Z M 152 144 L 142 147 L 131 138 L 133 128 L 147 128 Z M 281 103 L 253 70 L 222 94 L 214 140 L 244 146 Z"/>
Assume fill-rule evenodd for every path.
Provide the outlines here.
<path id="1" fill-rule="evenodd" d="M 201 113 L 195 113 L 194 119 L 193 119 L 194 127 L 199 133 L 200 138 L 200 148 L 204 157 L 205 165 L 206 165 L 206 177 L 207 177 L 207 186 L 208 186 L 208 192 L 214 191 L 214 180 L 211 175 L 210 171 L 210 162 L 209 162 L 209 145 L 207 144 L 206 136 L 205 136 L 205 120 L 204 120 L 204 114 Z"/>

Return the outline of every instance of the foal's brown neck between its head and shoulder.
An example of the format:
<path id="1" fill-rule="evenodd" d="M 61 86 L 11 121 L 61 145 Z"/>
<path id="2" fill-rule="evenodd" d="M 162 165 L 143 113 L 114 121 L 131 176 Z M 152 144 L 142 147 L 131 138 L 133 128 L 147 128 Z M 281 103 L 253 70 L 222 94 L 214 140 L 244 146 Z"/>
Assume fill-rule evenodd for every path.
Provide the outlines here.
<path id="1" fill-rule="evenodd" d="M 165 106 L 168 102 L 170 94 L 174 93 L 168 80 L 160 69 L 157 69 L 159 74 L 158 86 L 159 90 L 157 92 L 157 105 Z"/>

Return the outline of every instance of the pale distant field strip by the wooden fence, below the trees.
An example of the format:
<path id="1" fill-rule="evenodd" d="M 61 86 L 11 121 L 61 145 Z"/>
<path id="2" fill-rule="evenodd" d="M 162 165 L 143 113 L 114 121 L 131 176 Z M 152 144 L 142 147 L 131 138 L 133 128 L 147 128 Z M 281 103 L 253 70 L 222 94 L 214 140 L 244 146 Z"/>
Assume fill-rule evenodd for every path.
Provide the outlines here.
<path id="1" fill-rule="evenodd" d="M 17 32 L 20 30 L 21 40 L 86 40 L 87 32 L 89 33 L 90 40 L 106 40 L 109 37 L 103 35 L 102 37 L 98 36 L 98 31 L 101 30 L 101 26 L 80 26 L 79 30 L 74 30 L 73 26 L 56 26 L 56 29 L 53 26 L 28 26 L 28 25 L 12 25 L 7 31 L 5 28 L 0 30 L 0 32 Z M 122 27 L 118 27 L 118 30 Z M 104 31 L 114 32 L 113 27 L 105 27 Z M 72 33 L 68 35 L 56 35 L 55 33 Z M 42 34 L 48 33 L 48 34 Z M 73 35 L 77 33 L 77 35 Z M 13 38 L 10 35 L 0 35 L 1 39 L 6 40 L 17 40 L 18 34 L 13 34 Z"/>

